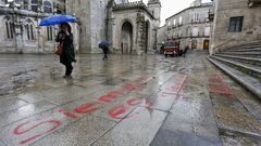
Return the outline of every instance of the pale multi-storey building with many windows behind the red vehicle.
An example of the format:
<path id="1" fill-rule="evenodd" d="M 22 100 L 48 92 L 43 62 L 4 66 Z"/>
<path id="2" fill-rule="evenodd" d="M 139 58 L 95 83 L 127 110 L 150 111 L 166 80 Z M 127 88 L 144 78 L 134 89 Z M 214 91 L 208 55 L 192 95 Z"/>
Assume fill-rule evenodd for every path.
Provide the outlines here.
<path id="1" fill-rule="evenodd" d="M 161 28 L 165 30 L 165 34 L 160 35 L 164 36 L 165 41 L 177 42 L 181 49 L 188 45 L 191 49 L 208 50 L 212 25 L 209 21 L 209 10 L 211 8 L 212 2 L 194 1 L 189 8 L 166 18 L 164 27 Z"/>

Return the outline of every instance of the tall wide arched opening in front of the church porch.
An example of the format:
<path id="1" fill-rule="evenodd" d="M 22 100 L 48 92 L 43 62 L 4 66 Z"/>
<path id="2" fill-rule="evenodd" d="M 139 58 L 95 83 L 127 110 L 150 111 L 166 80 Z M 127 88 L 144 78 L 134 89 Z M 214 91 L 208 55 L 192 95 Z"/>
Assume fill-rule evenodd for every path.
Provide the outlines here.
<path id="1" fill-rule="evenodd" d="M 132 54 L 133 51 L 133 25 L 129 22 L 125 22 L 122 25 L 122 38 L 121 38 L 121 52 L 122 54 Z"/>

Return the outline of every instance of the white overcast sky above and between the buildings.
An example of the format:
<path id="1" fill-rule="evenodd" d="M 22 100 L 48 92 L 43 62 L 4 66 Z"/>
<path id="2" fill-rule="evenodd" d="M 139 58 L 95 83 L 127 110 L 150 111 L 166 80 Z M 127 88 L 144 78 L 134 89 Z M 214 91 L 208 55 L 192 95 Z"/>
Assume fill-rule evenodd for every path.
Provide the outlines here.
<path id="1" fill-rule="evenodd" d="M 129 0 L 139 1 L 139 0 Z M 173 14 L 188 8 L 194 0 L 161 0 L 161 25 L 164 25 L 165 19 Z M 202 0 L 202 2 L 210 2 L 211 0 Z M 148 0 L 144 0 L 147 4 Z"/>

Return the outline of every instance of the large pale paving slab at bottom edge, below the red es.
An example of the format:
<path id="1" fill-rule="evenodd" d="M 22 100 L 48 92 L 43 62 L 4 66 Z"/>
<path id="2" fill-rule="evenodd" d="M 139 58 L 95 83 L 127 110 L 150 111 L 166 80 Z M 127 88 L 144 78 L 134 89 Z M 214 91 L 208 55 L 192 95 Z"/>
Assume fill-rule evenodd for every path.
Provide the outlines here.
<path id="1" fill-rule="evenodd" d="M 166 117 L 166 112 L 137 108 L 129 118 L 94 143 L 94 146 L 147 146 Z"/>

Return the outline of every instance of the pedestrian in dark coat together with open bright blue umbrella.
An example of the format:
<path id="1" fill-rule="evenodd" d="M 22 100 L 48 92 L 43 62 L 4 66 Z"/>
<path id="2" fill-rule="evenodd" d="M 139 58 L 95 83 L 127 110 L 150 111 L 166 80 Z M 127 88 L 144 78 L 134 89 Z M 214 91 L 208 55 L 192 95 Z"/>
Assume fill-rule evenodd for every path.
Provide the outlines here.
<path id="1" fill-rule="evenodd" d="M 59 42 L 59 48 L 55 54 L 60 56 L 60 63 L 65 66 L 65 75 L 63 78 L 72 78 L 72 63 L 76 62 L 73 44 L 74 39 L 69 22 L 74 23 L 76 18 L 70 15 L 54 15 L 44 18 L 40 23 L 40 26 L 60 25 L 60 31 L 55 39 L 55 41 Z"/>

